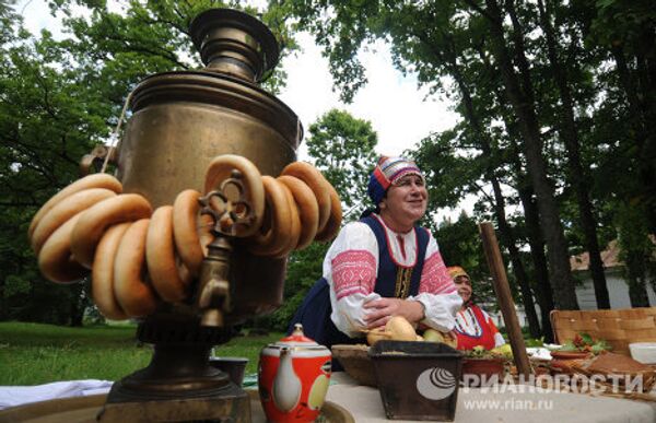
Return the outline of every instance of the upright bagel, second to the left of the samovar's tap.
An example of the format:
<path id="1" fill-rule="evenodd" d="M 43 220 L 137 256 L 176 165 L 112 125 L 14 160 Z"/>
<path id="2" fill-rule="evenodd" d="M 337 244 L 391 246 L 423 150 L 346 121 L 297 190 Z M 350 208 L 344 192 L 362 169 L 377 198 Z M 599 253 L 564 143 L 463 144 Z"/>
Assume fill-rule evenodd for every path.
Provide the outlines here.
<path id="1" fill-rule="evenodd" d="M 191 279 L 183 280 L 176 263 L 172 205 L 157 208 L 151 216 L 145 237 L 145 261 L 151 283 L 162 299 L 180 303 L 187 297 Z"/>

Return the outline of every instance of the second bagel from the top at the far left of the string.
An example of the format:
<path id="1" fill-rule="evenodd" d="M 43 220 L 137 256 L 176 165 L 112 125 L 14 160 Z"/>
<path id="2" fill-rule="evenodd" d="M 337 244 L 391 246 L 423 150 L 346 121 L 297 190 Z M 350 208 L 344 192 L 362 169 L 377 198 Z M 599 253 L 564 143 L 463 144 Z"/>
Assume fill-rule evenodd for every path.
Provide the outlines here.
<path id="1" fill-rule="evenodd" d="M 105 188 L 90 188 L 74 192 L 55 204 L 38 222 L 32 233 L 32 249 L 38 256 L 48 236 L 75 214 L 116 193 Z"/>

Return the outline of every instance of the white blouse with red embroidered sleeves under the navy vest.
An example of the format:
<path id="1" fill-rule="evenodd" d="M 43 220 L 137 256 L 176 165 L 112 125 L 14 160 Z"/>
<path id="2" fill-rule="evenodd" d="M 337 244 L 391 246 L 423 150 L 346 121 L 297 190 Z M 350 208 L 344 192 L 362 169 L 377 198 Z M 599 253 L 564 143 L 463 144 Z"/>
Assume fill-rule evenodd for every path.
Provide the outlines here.
<path id="1" fill-rule="evenodd" d="M 417 262 L 414 231 L 398 234 L 372 214 L 385 227 L 389 254 L 397 265 L 412 267 Z M 378 272 L 378 242 L 371 227 L 362 222 L 347 224 L 324 259 L 324 278 L 330 285 L 331 319 L 335 326 L 354 338 L 366 327 L 363 305 L 380 298 L 374 293 Z M 406 299 L 419 301 L 425 308 L 422 324 L 440 331 L 450 331 L 462 299 L 446 271 L 435 238 L 429 233 L 419 293 Z"/>

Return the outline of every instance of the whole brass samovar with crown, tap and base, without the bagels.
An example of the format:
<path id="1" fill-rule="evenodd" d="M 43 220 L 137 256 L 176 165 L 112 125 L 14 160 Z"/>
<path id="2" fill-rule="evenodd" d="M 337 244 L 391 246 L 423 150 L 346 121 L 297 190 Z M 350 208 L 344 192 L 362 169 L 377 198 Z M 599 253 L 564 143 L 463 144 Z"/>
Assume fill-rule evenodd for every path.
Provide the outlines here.
<path id="1" fill-rule="evenodd" d="M 277 176 L 295 160 L 302 139 L 297 116 L 258 86 L 279 58 L 260 21 L 209 10 L 192 21 L 190 34 L 207 67 L 142 81 L 115 158 L 124 191 L 154 208 L 172 204 L 184 189 L 203 192 L 206 168 L 221 154 L 244 156 L 262 175 Z M 210 203 L 206 199 L 206 209 Z M 209 365 L 209 355 L 231 338 L 232 326 L 280 306 L 285 258 L 254 256 L 226 236 L 209 250 L 194 297 L 160 304 L 140 321 L 139 340 L 154 344 L 152 362 L 114 385 L 101 421 L 250 421 L 248 396 Z M 220 287 L 204 301 L 212 284 Z"/>

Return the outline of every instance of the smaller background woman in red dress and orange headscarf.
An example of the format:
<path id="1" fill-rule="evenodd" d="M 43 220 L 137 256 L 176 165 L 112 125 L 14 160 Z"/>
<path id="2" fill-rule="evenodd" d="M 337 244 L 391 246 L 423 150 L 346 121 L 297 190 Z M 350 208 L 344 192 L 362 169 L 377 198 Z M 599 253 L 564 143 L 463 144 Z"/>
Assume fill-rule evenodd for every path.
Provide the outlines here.
<path id="1" fill-rule="evenodd" d="M 471 279 L 459 266 L 448 268 L 448 273 L 458 287 L 458 294 L 462 297 L 462 307 L 456 316 L 456 334 L 458 338 L 458 350 L 472 350 L 481 345 L 485 350 L 503 345 L 505 340 L 499 333 L 499 329 L 490 315 L 473 304 Z"/>

